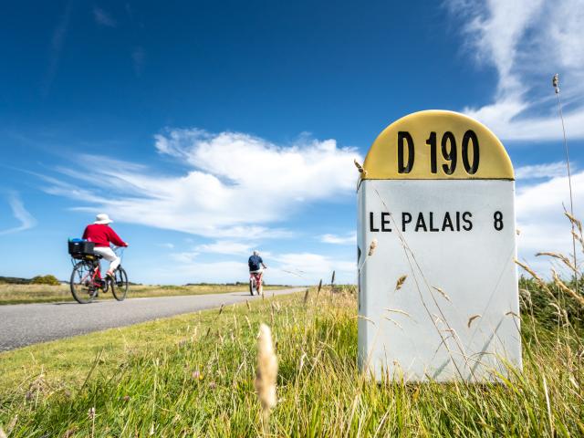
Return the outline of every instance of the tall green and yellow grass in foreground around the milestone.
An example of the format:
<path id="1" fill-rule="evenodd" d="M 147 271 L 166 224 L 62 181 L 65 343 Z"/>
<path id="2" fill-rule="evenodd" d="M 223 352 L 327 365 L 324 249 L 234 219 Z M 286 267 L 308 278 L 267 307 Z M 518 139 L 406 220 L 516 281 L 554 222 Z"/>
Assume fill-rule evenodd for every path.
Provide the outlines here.
<path id="1" fill-rule="evenodd" d="M 497 384 L 369 381 L 356 366 L 354 288 L 311 289 L 306 302 L 266 297 L 1 354 L 0 423 L 10 437 L 582 436 L 578 311 L 558 306 L 557 288 L 521 288 L 525 368 Z M 279 360 L 264 428 L 260 322 Z"/>

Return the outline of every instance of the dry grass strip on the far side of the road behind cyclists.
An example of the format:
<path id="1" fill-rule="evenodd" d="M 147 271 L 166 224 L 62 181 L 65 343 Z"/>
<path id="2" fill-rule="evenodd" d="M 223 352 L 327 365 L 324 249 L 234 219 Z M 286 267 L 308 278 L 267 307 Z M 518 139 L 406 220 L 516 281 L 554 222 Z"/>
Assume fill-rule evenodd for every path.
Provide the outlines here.
<path id="1" fill-rule="evenodd" d="M 171 297 L 175 295 L 203 295 L 231 293 L 246 290 L 246 285 L 192 285 L 192 286 L 156 286 L 132 285 L 128 290 L 129 298 Z M 282 286 L 266 286 L 265 290 L 282 289 Z M 111 293 L 99 294 L 98 299 L 113 299 Z M 3 285 L 0 284 L 0 305 L 50 303 L 73 301 L 68 285 Z"/>

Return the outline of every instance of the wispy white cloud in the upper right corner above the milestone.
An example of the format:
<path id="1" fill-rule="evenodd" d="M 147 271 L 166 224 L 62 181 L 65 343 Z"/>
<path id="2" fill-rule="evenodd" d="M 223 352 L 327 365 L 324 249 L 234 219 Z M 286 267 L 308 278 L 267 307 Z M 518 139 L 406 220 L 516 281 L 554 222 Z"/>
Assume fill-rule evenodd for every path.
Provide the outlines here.
<path id="1" fill-rule="evenodd" d="M 447 0 L 464 23 L 469 53 L 494 66 L 494 101 L 464 112 L 505 140 L 556 140 L 562 131 L 551 77 L 560 73 L 570 138 L 584 138 L 581 0 Z M 543 109 L 543 112 L 539 109 Z"/>

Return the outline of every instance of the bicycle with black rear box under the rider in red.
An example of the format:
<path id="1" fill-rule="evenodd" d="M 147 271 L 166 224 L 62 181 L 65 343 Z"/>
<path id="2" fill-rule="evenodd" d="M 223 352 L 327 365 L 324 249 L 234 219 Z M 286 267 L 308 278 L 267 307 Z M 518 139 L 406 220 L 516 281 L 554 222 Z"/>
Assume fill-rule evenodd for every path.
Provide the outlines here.
<path id="1" fill-rule="evenodd" d="M 123 256 L 122 247 L 117 247 L 114 252 L 120 258 Z M 101 269 L 99 260 L 103 258 L 101 255 L 95 254 L 92 251 L 83 251 L 79 253 L 71 253 L 71 262 L 73 263 L 73 272 L 69 285 L 71 287 L 71 294 L 79 304 L 88 304 L 98 297 L 99 289 L 104 293 L 108 292 L 111 287 L 111 293 L 118 301 L 123 301 L 128 294 L 128 274 L 123 267 L 118 266 L 114 271 L 114 276 L 101 277 Z M 76 260 L 78 260 L 76 262 Z"/>

